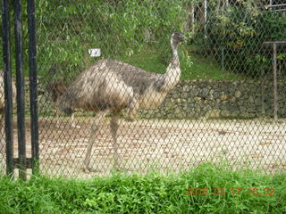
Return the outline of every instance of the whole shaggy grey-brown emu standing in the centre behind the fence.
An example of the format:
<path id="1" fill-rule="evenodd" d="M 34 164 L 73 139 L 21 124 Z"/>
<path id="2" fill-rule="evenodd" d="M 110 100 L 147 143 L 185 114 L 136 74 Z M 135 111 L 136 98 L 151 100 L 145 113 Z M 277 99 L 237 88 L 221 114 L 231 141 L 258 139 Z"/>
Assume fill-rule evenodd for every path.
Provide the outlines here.
<path id="1" fill-rule="evenodd" d="M 116 137 L 119 115 L 122 109 L 126 108 L 126 119 L 134 120 L 139 108 L 156 108 L 163 103 L 164 97 L 180 80 L 181 68 L 177 49 L 184 40 L 181 32 L 172 33 L 172 60 L 164 74 L 147 72 L 124 62 L 105 59 L 84 70 L 63 93 L 60 109 L 65 113 L 71 114 L 75 108 L 97 112 L 83 162 L 84 170 L 97 171 L 89 167 L 91 150 L 99 124 L 108 112 L 112 113 L 110 128 L 114 167 L 120 169 L 121 160 Z"/>

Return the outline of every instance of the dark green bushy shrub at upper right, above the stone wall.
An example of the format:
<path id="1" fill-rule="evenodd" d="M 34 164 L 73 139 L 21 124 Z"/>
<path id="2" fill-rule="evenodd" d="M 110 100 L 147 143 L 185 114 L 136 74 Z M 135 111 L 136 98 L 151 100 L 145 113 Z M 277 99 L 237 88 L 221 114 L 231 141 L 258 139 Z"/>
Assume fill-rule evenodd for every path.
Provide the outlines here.
<path id="1" fill-rule="evenodd" d="M 282 12 L 264 11 L 255 3 L 241 1 L 219 10 L 217 5 L 211 5 L 207 37 L 202 39 L 197 35 L 198 43 L 214 53 L 219 62 L 224 59 L 228 70 L 248 77 L 272 69 L 272 49 L 263 45 L 265 41 L 286 40 L 286 19 Z"/>

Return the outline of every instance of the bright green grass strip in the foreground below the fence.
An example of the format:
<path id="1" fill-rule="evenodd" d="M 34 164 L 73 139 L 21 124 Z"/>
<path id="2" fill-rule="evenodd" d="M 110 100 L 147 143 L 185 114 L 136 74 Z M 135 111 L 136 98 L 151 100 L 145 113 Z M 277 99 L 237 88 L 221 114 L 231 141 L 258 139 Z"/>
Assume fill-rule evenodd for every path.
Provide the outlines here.
<path id="1" fill-rule="evenodd" d="M 114 174 L 87 181 L 46 177 L 14 181 L 1 177 L 0 212 L 285 213 L 285 180 L 285 173 L 233 172 L 213 165 L 169 176 Z M 188 188 L 208 193 L 187 195 Z M 248 188 L 257 188 L 258 194 L 249 193 Z"/>

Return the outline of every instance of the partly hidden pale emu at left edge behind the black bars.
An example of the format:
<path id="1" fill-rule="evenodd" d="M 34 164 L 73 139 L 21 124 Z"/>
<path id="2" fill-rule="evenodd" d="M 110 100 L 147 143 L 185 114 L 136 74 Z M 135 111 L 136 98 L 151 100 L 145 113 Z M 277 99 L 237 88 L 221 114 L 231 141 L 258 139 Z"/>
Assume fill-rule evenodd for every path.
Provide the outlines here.
<path id="1" fill-rule="evenodd" d="M 16 86 L 12 83 L 13 103 L 16 100 Z M 4 142 L 4 72 L 0 70 L 0 152 L 3 151 Z"/>

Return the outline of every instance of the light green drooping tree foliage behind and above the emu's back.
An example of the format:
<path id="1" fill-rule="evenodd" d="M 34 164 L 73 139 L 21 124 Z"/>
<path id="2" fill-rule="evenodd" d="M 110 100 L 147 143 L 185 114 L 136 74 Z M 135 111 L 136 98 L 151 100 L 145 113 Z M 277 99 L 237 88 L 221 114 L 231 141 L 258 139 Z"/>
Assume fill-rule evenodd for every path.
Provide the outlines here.
<path id="1" fill-rule="evenodd" d="M 38 0 L 39 74 L 46 77 L 57 68 L 56 78 L 69 81 L 95 62 L 88 55 L 94 47 L 102 58 L 120 58 L 152 45 L 169 62 L 171 33 L 183 29 L 188 15 L 184 2 Z"/>

